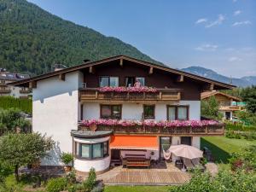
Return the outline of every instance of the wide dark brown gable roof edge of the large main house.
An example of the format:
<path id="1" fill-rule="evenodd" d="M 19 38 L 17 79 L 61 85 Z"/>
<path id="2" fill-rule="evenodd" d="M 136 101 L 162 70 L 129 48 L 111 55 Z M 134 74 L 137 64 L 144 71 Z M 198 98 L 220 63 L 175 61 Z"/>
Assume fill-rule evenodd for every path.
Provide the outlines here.
<path id="1" fill-rule="evenodd" d="M 195 74 L 192 74 L 192 73 L 183 72 L 183 71 L 180 71 L 180 70 L 177 70 L 177 69 L 173 69 L 171 67 L 162 66 L 162 65 L 151 63 L 151 62 L 148 62 L 148 61 L 141 61 L 141 60 L 138 60 L 138 59 L 132 58 L 130 56 L 126 56 L 126 55 L 117 55 L 117 56 L 109 57 L 109 58 L 102 59 L 102 60 L 99 60 L 99 61 L 86 62 L 86 63 L 83 63 L 83 64 L 78 65 L 78 66 L 67 67 L 67 68 L 59 70 L 59 71 L 44 73 L 44 74 L 38 75 L 36 77 L 32 77 L 30 79 L 23 79 L 23 80 L 13 82 L 13 83 L 10 83 L 10 84 L 24 86 L 25 84 L 27 84 L 29 82 L 32 82 L 32 81 L 47 79 L 47 78 L 59 75 L 61 73 L 70 73 L 70 72 L 78 71 L 80 69 L 84 69 L 84 68 L 87 68 L 87 67 L 93 67 L 93 66 L 96 66 L 96 65 L 107 63 L 109 61 L 118 61 L 118 60 L 121 60 L 121 59 L 125 60 L 125 61 L 135 62 L 137 64 L 148 66 L 148 67 L 154 67 L 154 68 L 157 68 L 157 69 L 169 72 L 169 73 L 176 73 L 178 75 L 183 75 L 183 77 L 188 77 L 190 79 L 196 79 L 196 80 L 206 82 L 206 83 L 209 83 L 209 84 L 215 84 L 215 85 L 218 85 L 218 86 L 222 87 L 223 89 L 233 89 L 233 88 L 236 87 L 235 85 L 225 84 L 225 83 L 218 82 L 218 81 L 215 81 L 215 80 L 212 80 L 212 79 L 203 78 L 201 76 L 198 76 L 198 75 L 195 75 Z"/>

